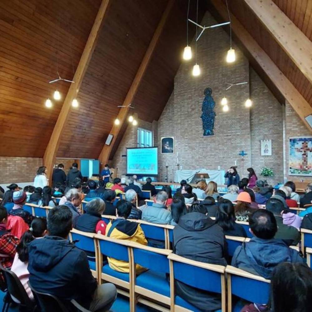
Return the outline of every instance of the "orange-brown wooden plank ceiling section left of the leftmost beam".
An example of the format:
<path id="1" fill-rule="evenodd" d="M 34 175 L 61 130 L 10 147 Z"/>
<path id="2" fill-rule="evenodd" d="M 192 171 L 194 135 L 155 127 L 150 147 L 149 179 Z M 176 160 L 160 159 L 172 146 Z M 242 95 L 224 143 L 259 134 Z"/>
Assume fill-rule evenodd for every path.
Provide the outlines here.
<path id="1" fill-rule="evenodd" d="M 0 1 L 1 156 L 42 157 L 69 84 L 50 85 L 56 68 L 62 77 L 73 70 L 93 25 L 100 0 Z M 58 59 L 58 65 L 56 60 Z"/>

